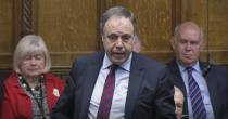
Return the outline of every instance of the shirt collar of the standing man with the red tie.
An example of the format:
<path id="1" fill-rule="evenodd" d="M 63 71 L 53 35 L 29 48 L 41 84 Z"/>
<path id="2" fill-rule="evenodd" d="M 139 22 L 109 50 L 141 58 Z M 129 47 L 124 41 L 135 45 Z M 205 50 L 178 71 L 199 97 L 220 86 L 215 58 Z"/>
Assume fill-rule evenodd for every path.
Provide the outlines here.
<path id="1" fill-rule="evenodd" d="M 131 58 L 132 58 L 132 53 L 130 53 L 130 56 L 127 58 L 126 62 L 124 62 L 123 64 L 119 65 L 121 68 L 123 68 L 124 70 L 130 71 L 130 63 L 131 63 Z M 110 61 L 109 56 L 104 55 L 104 60 L 103 60 L 103 64 L 102 64 L 102 69 L 107 68 L 109 66 L 111 66 L 113 64 L 112 61 Z"/>

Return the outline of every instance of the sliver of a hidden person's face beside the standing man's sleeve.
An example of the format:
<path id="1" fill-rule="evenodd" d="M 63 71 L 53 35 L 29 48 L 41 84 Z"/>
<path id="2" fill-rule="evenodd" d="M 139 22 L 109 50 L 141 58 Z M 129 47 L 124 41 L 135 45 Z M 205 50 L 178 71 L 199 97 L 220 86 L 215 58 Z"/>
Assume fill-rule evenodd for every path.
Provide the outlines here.
<path id="1" fill-rule="evenodd" d="M 183 95 L 182 95 L 182 91 L 180 91 L 179 88 L 174 87 L 175 88 L 175 94 L 174 94 L 174 102 L 175 102 L 175 106 L 176 106 L 176 116 L 177 119 L 181 119 L 182 117 L 182 106 L 183 106 Z"/>

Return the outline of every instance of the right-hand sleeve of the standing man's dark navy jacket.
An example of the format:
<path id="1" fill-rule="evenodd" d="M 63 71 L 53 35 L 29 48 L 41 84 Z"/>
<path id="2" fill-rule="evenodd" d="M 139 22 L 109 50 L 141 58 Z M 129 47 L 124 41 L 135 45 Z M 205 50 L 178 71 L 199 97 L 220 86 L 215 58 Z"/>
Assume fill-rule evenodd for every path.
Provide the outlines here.
<path id="1" fill-rule="evenodd" d="M 130 119 L 176 119 L 174 85 L 166 70 L 154 70 L 148 75 L 148 79 L 141 84 L 135 107 Z"/>

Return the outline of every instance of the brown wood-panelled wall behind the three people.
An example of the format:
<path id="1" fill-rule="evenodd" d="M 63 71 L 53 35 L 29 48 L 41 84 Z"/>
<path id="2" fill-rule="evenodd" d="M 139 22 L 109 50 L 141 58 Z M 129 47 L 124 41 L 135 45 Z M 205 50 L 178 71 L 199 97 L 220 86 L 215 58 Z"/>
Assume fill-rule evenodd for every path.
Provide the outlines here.
<path id="1" fill-rule="evenodd" d="M 132 11 L 142 39 L 142 54 L 163 63 L 173 58 L 169 39 L 185 21 L 202 26 L 211 62 L 228 65 L 228 0 L 0 0 L 0 68 L 12 70 L 15 44 L 26 34 L 43 37 L 52 72 L 66 75 L 72 62 L 102 50 L 99 19 L 111 6 Z M 207 10 L 208 9 L 208 10 Z M 207 24 L 208 22 L 208 24 Z M 208 29 L 207 29 L 208 27 Z M 201 60 L 206 58 L 206 49 Z"/>

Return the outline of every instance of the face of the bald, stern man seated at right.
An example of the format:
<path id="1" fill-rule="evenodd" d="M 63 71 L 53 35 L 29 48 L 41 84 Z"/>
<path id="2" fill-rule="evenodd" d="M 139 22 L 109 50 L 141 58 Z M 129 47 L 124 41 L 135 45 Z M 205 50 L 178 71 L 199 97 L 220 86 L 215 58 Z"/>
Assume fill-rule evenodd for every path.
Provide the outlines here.
<path id="1" fill-rule="evenodd" d="M 176 40 L 172 40 L 176 58 L 183 67 L 191 67 L 199 60 L 203 50 L 203 41 L 200 39 L 200 28 L 182 27 L 179 29 Z"/>

